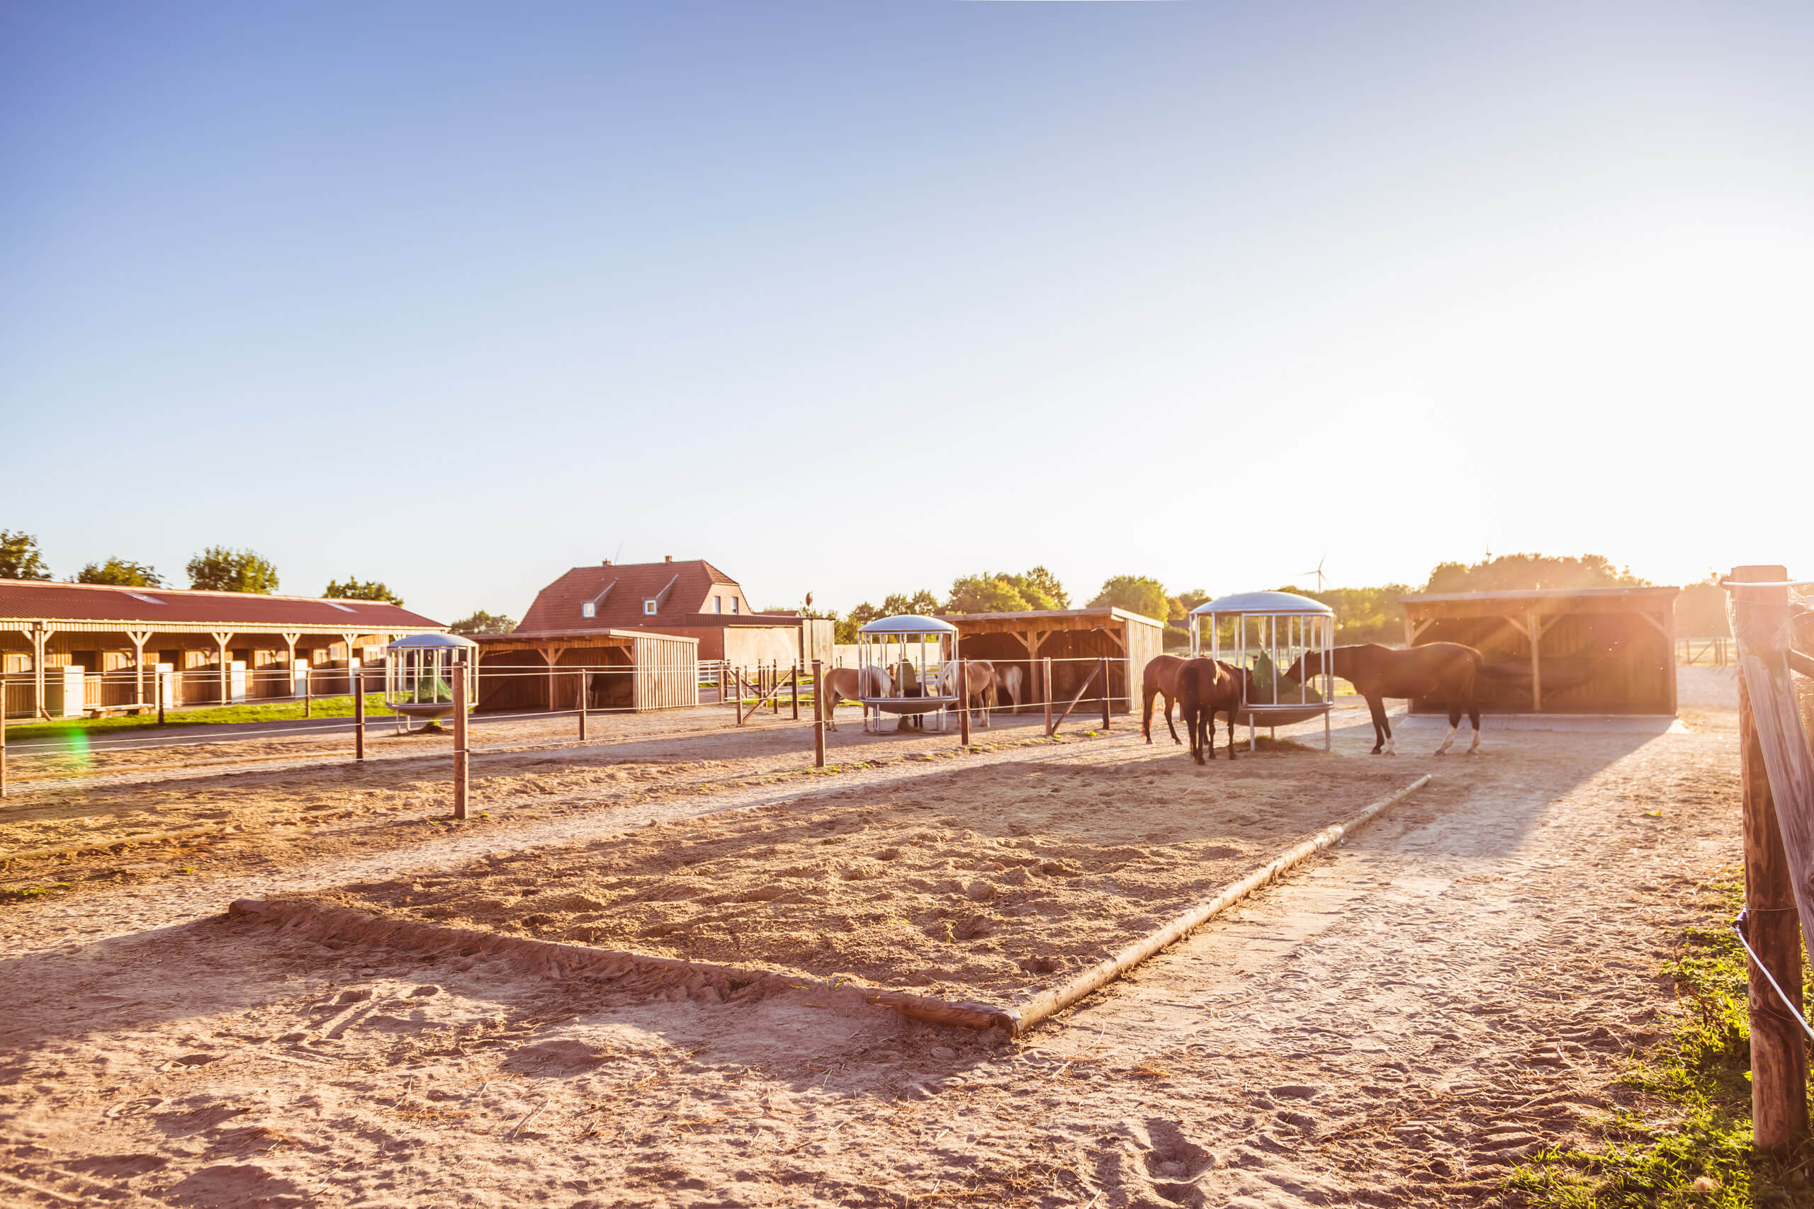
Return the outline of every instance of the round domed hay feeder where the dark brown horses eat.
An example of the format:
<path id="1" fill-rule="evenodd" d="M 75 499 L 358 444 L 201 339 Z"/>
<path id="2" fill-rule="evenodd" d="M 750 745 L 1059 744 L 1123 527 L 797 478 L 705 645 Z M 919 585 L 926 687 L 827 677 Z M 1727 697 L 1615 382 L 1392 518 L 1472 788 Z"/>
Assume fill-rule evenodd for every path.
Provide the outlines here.
<path id="1" fill-rule="evenodd" d="M 1259 727 L 1286 727 L 1319 716 L 1322 750 L 1330 750 L 1335 674 L 1326 669 L 1333 649 L 1335 609 L 1297 593 L 1235 593 L 1190 611 L 1190 654 L 1208 654 L 1253 674 L 1246 709 L 1235 714 L 1235 721 L 1248 727 L 1248 750 Z M 1310 653 L 1322 654 L 1324 672 L 1297 683 L 1286 671 Z"/>

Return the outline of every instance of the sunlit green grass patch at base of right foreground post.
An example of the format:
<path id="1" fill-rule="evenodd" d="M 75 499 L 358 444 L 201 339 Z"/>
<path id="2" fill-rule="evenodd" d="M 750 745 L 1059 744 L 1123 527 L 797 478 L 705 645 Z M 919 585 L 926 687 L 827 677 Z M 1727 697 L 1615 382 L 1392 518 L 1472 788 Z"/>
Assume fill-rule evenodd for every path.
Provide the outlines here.
<path id="1" fill-rule="evenodd" d="M 1751 1024 L 1745 950 L 1727 923 L 1743 883 L 1709 886 L 1702 923 L 1678 937 L 1662 973 L 1676 979 L 1669 1037 L 1625 1073 L 1651 1098 L 1616 1109 L 1600 1151 L 1533 1156 L 1506 1187 L 1544 1209 L 1752 1209 L 1814 1204 L 1814 1146 L 1787 1158 L 1751 1146 Z M 1814 984 L 1810 984 L 1814 990 Z M 1807 999 L 1803 999 L 1807 1002 Z"/>

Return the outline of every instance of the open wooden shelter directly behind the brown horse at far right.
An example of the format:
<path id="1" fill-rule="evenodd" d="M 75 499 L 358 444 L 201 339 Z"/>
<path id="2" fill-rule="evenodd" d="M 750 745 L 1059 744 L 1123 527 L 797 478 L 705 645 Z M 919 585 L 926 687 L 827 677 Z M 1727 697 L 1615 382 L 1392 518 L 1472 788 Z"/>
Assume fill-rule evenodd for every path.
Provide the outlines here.
<path id="1" fill-rule="evenodd" d="M 1406 645 L 1458 642 L 1491 674 L 1489 714 L 1674 714 L 1676 587 L 1578 587 L 1399 596 Z M 1444 714 L 1442 701 L 1411 701 Z"/>

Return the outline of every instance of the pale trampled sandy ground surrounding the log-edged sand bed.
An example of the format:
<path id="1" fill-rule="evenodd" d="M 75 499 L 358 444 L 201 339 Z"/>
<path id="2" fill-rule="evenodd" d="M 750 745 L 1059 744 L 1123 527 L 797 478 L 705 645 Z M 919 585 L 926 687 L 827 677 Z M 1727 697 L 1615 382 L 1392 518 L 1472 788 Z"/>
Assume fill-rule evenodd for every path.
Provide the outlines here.
<path id="1" fill-rule="evenodd" d="M 1375 759 L 1357 725 L 1333 759 L 1199 770 L 1117 730 L 956 763 L 898 758 L 824 788 L 744 778 L 756 783 L 74 885 L 0 915 L 0 1196 L 1491 1204 L 1533 1147 L 1604 1135 L 1602 1109 L 1629 1097 L 1620 1062 L 1671 1006 L 1656 964 L 1673 928 L 1738 859 L 1732 718 L 1716 694 L 1683 698 L 1685 734 L 1506 732 L 1473 758 L 1402 743 L 1408 754 Z M 802 801 L 780 817 L 849 817 L 1039 770 L 1112 787 L 1101 812 L 1163 812 L 1181 767 L 1188 785 L 1234 796 L 1235 778 L 1290 779 L 1319 761 L 1437 779 L 1012 1044 L 805 991 L 673 1002 L 499 961 L 341 952 L 219 915 L 245 894 L 414 879 L 653 817 L 742 807 L 738 821 L 756 821 L 784 798 Z M 831 801 L 849 790 L 867 805 Z M 929 814 L 963 821 L 965 801 Z M 967 827 L 990 836 L 998 817 L 985 808 Z"/>

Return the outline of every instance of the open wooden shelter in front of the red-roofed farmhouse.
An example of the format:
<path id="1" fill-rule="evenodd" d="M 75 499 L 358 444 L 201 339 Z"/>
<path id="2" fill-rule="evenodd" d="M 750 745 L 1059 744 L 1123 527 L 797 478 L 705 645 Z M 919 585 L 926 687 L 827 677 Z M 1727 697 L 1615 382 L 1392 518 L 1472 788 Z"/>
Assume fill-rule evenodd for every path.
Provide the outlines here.
<path id="1" fill-rule="evenodd" d="M 475 709 L 675 709 L 698 705 L 698 638 L 642 629 L 473 634 Z"/>

